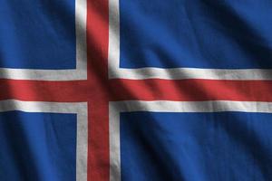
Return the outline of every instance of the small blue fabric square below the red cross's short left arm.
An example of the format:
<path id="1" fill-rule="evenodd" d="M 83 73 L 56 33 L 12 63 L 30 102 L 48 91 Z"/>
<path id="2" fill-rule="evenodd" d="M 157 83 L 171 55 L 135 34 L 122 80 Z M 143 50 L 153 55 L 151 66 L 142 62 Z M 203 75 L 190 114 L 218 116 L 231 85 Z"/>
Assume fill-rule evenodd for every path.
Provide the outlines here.
<path id="1" fill-rule="evenodd" d="M 0 113 L 1 181 L 75 180 L 76 115 Z"/>

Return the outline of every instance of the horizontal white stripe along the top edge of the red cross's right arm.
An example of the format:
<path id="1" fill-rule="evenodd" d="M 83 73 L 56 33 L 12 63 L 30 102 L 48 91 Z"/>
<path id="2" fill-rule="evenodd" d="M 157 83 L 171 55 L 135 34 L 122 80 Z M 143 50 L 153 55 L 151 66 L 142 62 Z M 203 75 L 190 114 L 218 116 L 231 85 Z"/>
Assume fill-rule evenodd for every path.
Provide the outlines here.
<path id="1" fill-rule="evenodd" d="M 241 70 L 197 69 L 197 68 L 123 69 L 112 66 L 109 73 L 111 79 L 120 78 L 131 80 L 144 80 L 144 79 L 272 80 L 272 70 L 263 69 L 241 69 Z"/>

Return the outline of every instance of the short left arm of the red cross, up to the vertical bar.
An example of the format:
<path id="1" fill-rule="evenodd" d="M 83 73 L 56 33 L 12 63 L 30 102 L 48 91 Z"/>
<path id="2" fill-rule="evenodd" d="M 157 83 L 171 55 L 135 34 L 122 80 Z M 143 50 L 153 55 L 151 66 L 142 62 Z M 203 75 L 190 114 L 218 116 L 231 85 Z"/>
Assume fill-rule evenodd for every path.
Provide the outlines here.
<path id="1" fill-rule="evenodd" d="M 87 81 L 0 80 L 0 100 L 86 101 Z"/>

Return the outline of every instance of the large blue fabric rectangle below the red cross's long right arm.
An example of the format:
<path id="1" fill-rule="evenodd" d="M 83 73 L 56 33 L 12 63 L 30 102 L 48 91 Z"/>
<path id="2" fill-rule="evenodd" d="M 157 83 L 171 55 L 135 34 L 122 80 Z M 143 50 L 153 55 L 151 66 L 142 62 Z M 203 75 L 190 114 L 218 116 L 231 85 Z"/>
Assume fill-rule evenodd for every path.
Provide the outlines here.
<path id="1" fill-rule="evenodd" d="M 271 129 L 264 113 L 121 113 L 121 180 L 272 180 Z"/>

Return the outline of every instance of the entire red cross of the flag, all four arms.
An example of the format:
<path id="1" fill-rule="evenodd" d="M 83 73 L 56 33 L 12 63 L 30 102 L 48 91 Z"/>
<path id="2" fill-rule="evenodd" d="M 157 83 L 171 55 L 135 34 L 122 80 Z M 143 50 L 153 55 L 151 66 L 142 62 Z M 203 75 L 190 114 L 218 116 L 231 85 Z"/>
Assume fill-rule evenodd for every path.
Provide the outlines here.
<path id="1" fill-rule="evenodd" d="M 86 81 L 0 80 L 0 100 L 88 102 L 88 180 L 109 180 L 109 101 L 272 101 L 272 81 L 108 79 L 108 0 L 87 3 Z"/>

